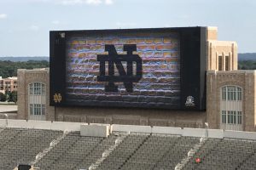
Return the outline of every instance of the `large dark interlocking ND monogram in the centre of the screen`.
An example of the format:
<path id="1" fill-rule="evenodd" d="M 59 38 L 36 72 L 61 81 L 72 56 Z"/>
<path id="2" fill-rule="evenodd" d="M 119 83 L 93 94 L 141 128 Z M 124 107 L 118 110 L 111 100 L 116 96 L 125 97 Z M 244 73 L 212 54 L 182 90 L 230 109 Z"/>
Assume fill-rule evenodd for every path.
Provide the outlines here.
<path id="1" fill-rule="evenodd" d="M 117 54 L 113 45 L 105 45 L 105 51 L 108 54 L 97 55 L 97 60 L 100 61 L 100 76 L 97 77 L 98 82 L 108 82 L 105 86 L 106 92 L 118 92 L 118 86 L 114 82 L 124 82 L 127 92 L 133 91 L 133 82 L 139 82 L 143 77 L 143 61 L 137 54 L 132 54 L 137 51 L 136 44 L 125 44 L 124 51 L 127 54 Z M 122 62 L 126 62 L 127 71 L 124 69 Z M 108 75 L 106 75 L 106 63 L 108 63 Z M 119 71 L 119 76 L 114 75 L 114 65 Z M 136 65 L 136 74 L 133 73 L 133 65 Z"/>

